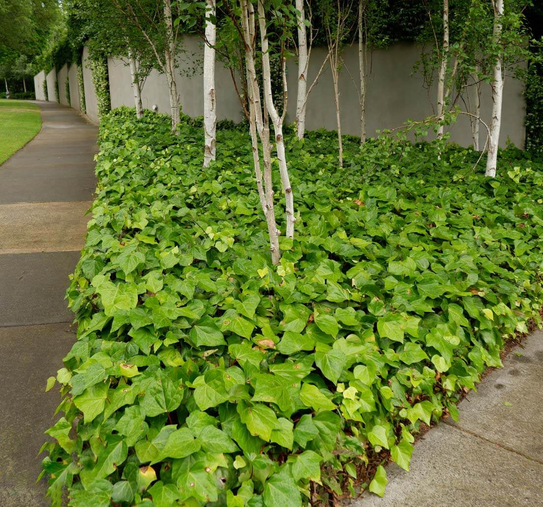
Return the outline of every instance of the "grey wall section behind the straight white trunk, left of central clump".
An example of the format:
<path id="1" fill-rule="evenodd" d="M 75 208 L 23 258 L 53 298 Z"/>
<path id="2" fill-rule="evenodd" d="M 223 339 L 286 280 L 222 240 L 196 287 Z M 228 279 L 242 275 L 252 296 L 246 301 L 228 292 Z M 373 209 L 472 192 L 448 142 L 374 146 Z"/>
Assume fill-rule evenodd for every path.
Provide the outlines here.
<path id="1" fill-rule="evenodd" d="M 175 82 L 180 96 L 181 110 L 189 116 L 204 114 L 203 75 L 201 73 L 204 49 L 196 37 L 185 37 L 180 65 L 176 69 Z M 182 70 L 186 69 L 186 70 Z M 108 72 L 111 94 L 111 108 L 126 105 L 134 107 L 134 92 L 132 92 L 130 68 L 128 61 L 122 58 L 108 58 Z M 217 88 L 217 119 L 233 119 L 239 122 L 243 118 L 241 105 L 233 87 L 230 71 L 220 62 L 215 69 Z M 115 83 L 112 86 L 111 83 Z M 158 111 L 169 113 L 169 96 L 166 77 L 157 71 L 152 71 L 142 88 L 142 103 L 146 109 L 153 105 Z"/>

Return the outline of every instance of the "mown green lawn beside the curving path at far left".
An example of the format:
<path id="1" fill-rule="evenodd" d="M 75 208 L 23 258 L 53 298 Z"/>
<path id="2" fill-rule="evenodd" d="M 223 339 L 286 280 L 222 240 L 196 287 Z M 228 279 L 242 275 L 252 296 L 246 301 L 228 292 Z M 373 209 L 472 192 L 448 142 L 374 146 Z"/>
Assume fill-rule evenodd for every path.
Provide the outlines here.
<path id="1" fill-rule="evenodd" d="M 0 99 L 0 164 L 41 129 L 39 107 L 24 100 Z"/>

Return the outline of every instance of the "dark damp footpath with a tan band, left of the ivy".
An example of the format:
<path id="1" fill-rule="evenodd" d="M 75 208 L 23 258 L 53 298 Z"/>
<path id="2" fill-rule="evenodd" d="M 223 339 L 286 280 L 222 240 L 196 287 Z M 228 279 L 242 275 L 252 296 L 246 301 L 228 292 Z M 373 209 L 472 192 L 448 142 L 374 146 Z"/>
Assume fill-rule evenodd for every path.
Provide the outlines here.
<path id="1" fill-rule="evenodd" d="M 54 422 L 45 393 L 75 334 L 64 294 L 84 242 L 95 188 L 97 127 L 36 102 L 42 130 L 0 166 L 0 505 L 41 507 L 37 456 Z"/>

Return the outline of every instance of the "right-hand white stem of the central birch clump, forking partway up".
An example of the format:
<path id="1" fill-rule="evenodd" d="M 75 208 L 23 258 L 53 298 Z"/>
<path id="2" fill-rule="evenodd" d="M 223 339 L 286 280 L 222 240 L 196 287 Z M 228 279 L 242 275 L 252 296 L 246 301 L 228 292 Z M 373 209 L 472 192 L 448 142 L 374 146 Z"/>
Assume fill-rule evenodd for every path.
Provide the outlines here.
<path id="1" fill-rule="evenodd" d="M 266 108 L 268 110 L 271 122 L 273 123 L 275 134 L 275 147 L 277 150 L 277 161 L 279 162 L 279 174 L 281 175 L 281 182 L 283 185 L 283 192 L 285 193 L 285 212 L 287 214 L 287 238 L 294 237 L 294 197 L 292 195 L 291 182 L 288 176 L 287 158 L 285 153 L 285 142 L 283 141 L 283 119 L 286 112 L 286 104 L 283 107 L 283 116 L 279 116 L 275 109 L 273 102 L 273 95 L 271 94 L 271 71 L 270 71 L 270 57 L 268 52 L 268 35 L 266 33 L 266 14 L 264 13 L 264 6 L 262 2 L 258 2 L 258 24 L 260 25 L 260 42 L 262 47 L 262 82 L 264 86 L 264 100 L 266 102 Z M 282 56 L 282 55 L 281 55 Z M 285 60 L 281 61 L 282 75 L 283 75 L 283 92 L 287 93 L 286 79 L 285 79 Z"/>

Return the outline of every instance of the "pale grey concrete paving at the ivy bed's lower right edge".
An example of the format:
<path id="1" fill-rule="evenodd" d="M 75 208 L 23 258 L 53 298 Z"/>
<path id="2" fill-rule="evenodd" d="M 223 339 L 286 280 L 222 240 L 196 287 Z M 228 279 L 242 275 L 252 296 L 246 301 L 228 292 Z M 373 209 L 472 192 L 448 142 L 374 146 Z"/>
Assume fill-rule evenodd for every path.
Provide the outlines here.
<path id="1" fill-rule="evenodd" d="M 416 444 L 409 472 L 387 466 L 384 498 L 356 507 L 543 505 L 543 332 L 516 347 Z"/>

